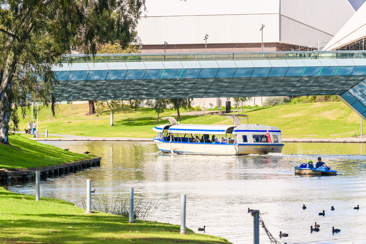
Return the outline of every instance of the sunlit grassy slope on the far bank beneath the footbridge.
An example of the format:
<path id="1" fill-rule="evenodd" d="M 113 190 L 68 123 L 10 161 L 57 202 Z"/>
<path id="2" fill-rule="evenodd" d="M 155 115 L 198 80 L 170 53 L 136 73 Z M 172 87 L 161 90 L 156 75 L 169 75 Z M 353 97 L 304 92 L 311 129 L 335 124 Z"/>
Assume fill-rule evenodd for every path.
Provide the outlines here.
<path id="1" fill-rule="evenodd" d="M 73 114 L 70 115 L 71 107 Z M 156 118 L 136 118 L 139 116 L 156 116 L 150 108 L 119 109 L 115 118 L 135 117 L 132 119 L 115 119 L 115 126 L 109 127 L 109 119 L 95 119 L 94 116 L 85 116 L 89 112 L 87 104 L 59 105 L 57 119 L 50 121 L 49 109 L 40 113 L 40 131 L 48 129 L 48 133 L 70 134 L 81 136 L 100 137 L 152 137 L 155 132 L 152 128 L 156 125 Z M 175 113 L 167 109 L 162 116 Z M 273 125 L 281 129 L 283 137 L 314 137 L 314 138 L 341 138 L 360 134 L 360 117 L 343 102 L 321 102 L 284 105 L 273 108 L 244 111 L 249 115 L 249 123 Z M 109 118 L 109 111 L 105 109 L 100 118 Z M 42 119 L 42 120 L 41 120 Z M 26 120 L 20 119 L 21 127 L 26 127 Z M 231 120 L 221 116 L 182 116 L 180 123 L 188 124 L 231 124 Z M 165 123 L 165 121 L 160 121 Z M 366 124 L 366 123 L 364 123 Z M 366 126 L 366 125 L 365 125 Z M 24 129 L 23 128 L 23 129 Z M 365 129 L 363 129 L 365 130 Z M 366 131 L 366 130 L 365 130 Z"/>

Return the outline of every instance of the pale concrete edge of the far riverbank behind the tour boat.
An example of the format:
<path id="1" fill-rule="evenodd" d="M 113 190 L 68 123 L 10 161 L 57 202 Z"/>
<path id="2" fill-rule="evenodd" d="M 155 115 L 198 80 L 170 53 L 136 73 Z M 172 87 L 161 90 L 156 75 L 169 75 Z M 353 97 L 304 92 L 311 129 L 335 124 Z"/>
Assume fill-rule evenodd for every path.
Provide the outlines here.
<path id="1" fill-rule="evenodd" d="M 29 138 L 37 141 L 152 142 L 152 138 Z M 366 138 L 282 138 L 282 142 L 366 143 Z"/>

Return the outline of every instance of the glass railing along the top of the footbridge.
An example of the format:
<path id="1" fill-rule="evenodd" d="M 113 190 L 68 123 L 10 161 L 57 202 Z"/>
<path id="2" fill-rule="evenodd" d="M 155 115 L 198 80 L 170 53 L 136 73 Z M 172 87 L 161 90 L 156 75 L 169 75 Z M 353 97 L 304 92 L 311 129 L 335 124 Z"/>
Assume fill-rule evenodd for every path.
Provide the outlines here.
<path id="1" fill-rule="evenodd" d="M 211 60 L 278 60 L 278 59 L 364 59 L 366 50 L 309 52 L 231 52 L 231 53 L 113 53 L 64 55 L 65 63 L 211 61 Z"/>

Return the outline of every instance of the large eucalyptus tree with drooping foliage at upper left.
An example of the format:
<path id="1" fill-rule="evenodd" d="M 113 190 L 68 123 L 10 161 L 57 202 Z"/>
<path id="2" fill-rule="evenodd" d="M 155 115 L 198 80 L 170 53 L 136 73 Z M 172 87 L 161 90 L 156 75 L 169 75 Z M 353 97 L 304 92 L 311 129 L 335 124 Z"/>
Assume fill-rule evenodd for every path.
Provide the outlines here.
<path id="1" fill-rule="evenodd" d="M 0 142 L 9 144 L 9 131 L 19 129 L 20 102 L 23 117 L 30 97 L 51 102 L 55 114 L 52 66 L 64 53 L 94 55 L 108 43 L 126 48 L 137 40 L 143 7 L 145 0 L 0 0 Z"/>

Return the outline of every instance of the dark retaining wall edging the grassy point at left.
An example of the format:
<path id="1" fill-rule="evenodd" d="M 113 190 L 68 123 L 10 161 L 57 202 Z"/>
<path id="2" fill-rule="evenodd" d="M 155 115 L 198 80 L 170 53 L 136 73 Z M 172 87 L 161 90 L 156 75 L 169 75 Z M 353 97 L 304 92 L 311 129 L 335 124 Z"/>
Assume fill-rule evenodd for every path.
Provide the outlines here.
<path id="1" fill-rule="evenodd" d="M 22 177 L 23 180 L 31 180 L 32 178 L 35 177 L 36 171 L 39 171 L 41 176 L 42 175 L 49 176 L 50 174 L 55 174 L 55 170 L 57 172 L 56 174 L 59 174 L 60 171 L 65 173 L 67 171 L 70 171 L 70 167 L 75 167 L 75 166 L 78 169 L 80 169 L 80 168 L 86 169 L 86 168 L 90 168 L 91 166 L 100 165 L 101 159 L 102 159 L 101 157 L 96 157 L 96 158 L 86 159 L 86 160 L 82 160 L 82 161 L 78 161 L 78 162 L 65 163 L 65 164 L 54 165 L 54 166 L 49 166 L 49 167 L 44 167 L 44 168 L 39 168 L 39 169 L 34 169 L 34 170 L 16 169 L 18 171 L 10 171 L 7 169 L 0 169 L 0 175 L 1 175 L 0 180 L 8 181 L 11 179 L 16 179 L 16 176 Z M 74 168 L 72 169 L 72 171 L 73 170 L 74 170 Z"/>

